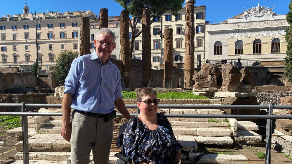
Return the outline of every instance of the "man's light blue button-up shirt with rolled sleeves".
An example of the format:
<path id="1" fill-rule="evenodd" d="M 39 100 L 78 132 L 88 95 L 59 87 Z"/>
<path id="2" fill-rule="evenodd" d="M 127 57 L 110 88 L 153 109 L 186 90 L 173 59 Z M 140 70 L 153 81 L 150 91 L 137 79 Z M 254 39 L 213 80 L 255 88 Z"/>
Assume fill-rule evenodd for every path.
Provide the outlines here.
<path id="1" fill-rule="evenodd" d="M 95 51 L 77 57 L 65 79 L 64 93 L 73 95 L 73 109 L 107 114 L 122 97 L 120 71 L 109 59 L 102 65 Z"/>

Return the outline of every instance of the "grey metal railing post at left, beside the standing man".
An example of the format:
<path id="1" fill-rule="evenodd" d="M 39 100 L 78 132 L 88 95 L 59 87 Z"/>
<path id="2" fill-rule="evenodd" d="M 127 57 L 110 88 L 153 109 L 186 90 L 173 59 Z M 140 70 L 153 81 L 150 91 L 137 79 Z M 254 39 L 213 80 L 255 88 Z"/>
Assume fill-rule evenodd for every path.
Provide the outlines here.
<path id="1" fill-rule="evenodd" d="M 25 102 L 21 103 L 21 112 L 27 112 Z M 27 116 L 21 116 L 21 122 L 22 122 L 23 164 L 29 164 Z"/>

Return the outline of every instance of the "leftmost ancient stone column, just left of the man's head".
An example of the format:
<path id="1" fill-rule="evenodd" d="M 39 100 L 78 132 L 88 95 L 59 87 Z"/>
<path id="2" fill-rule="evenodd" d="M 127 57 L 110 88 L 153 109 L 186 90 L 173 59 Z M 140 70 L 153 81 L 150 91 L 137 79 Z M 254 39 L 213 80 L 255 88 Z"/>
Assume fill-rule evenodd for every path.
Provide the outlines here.
<path id="1" fill-rule="evenodd" d="M 89 18 L 81 17 L 80 29 L 80 56 L 90 54 Z"/>

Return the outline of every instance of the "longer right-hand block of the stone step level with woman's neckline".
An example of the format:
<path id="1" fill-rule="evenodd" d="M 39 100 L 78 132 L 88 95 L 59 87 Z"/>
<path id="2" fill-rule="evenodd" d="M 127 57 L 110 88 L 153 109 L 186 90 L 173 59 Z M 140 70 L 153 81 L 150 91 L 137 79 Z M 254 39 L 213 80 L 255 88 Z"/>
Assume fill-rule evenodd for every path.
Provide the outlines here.
<path id="1" fill-rule="evenodd" d="M 230 129 L 220 128 L 197 128 L 198 136 L 231 136 Z"/>

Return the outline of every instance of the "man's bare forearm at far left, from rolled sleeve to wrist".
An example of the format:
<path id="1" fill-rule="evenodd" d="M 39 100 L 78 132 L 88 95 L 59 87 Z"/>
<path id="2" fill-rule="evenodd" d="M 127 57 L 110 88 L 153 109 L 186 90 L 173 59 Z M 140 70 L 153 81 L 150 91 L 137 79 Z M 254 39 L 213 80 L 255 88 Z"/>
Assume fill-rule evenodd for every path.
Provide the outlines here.
<path id="1" fill-rule="evenodd" d="M 71 93 L 65 93 L 62 99 L 62 121 L 70 122 L 70 113 L 71 113 L 71 103 L 73 100 L 73 95 Z"/>

